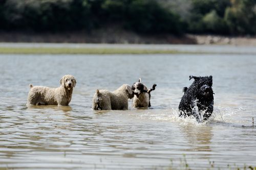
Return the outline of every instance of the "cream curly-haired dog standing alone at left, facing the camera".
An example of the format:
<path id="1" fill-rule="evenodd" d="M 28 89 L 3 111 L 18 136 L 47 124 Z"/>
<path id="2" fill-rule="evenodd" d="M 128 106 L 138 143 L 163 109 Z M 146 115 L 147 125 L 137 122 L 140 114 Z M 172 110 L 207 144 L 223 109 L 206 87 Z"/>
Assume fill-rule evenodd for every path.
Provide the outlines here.
<path id="1" fill-rule="evenodd" d="M 60 79 L 60 87 L 49 88 L 44 86 L 33 86 L 30 84 L 27 106 L 31 105 L 58 105 L 68 106 L 76 79 L 71 75 L 65 75 Z"/>

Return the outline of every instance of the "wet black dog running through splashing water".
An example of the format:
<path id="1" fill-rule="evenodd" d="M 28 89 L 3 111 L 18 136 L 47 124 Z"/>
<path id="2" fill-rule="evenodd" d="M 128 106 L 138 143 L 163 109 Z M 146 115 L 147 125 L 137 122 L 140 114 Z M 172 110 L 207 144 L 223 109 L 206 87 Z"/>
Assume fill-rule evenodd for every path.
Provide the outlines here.
<path id="1" fill-rule="evenodd" d="M 195 81 L 189 88 L 184 87 L 184 95 L 181 98 L 179 104 L 179 116 L 191 116 L 196 117 L 197 122 L 201 123 L 200 111 L 205 111 L 203 119 L 207 120 L 212 111 L 214 110 L 214 91 L 212 91 L 212 76 L 195 77 L 189 76 L 189 80 Z M 196 113 L 198 108 L 199 113 Z"/>

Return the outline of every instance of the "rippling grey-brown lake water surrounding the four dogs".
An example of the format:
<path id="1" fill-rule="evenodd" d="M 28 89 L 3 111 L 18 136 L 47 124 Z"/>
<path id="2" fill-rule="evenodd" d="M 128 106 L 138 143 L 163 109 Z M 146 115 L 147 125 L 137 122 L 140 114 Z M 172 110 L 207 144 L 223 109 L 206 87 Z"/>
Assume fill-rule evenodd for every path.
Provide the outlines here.
<path id="1" fill-rule="evenodd" d="M 256 122 L 255 55 L 0 55 L 0 61 L 0 169 L 256 166 L 256 128 L 249 127 L 252 117 Z M 69 107 L 26 107 L 30 83 L 58 87 L 66 74 L 77 80 Z M 203 124 L 178 117 L 189 75 L 213 76 L 214 113 Z M 91 109 L 96 89 L 139 78 L 157 84 L 151 109 L 133 109 L 131 101 L 127 111 Z"/>

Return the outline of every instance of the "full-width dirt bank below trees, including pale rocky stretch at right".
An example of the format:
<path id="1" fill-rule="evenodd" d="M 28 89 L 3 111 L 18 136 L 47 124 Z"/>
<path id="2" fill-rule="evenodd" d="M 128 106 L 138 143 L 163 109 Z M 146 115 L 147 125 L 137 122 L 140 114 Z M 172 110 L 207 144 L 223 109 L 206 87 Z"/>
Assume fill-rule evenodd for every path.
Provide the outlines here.
<path id="1" fill-rule="evenodd" d="M 174 36 L 171 34 L 139 35 L 120 29 L 106 28 L 92 31 L 34 33 L 0 32 L 0 42 L 50 42 L 50 43 L 121 43 L 121 44 L 219 44 L 253 45 L 256 37 L 230 37 L 215 35 Z"/>

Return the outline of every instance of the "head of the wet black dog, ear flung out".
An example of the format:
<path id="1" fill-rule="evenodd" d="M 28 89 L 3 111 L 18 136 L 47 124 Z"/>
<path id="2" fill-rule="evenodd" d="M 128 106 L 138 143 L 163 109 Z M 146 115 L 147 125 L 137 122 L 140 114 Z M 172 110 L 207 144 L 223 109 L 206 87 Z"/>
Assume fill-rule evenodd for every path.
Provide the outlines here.
<path id="1" fill-rule="evenodd" d="M 189 80 L 195 79 L 193 84 L 197 89 L 199 89 L 199 93 L 203 96 L 208 96 L 214 94 L 212 90 L 212 76 L 206 77 L 195 77 L 189 76 Z"/>

